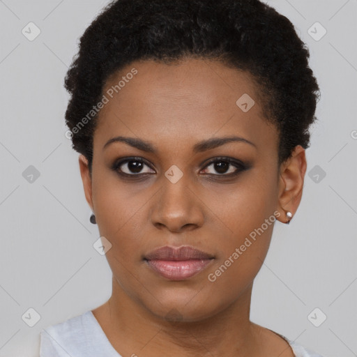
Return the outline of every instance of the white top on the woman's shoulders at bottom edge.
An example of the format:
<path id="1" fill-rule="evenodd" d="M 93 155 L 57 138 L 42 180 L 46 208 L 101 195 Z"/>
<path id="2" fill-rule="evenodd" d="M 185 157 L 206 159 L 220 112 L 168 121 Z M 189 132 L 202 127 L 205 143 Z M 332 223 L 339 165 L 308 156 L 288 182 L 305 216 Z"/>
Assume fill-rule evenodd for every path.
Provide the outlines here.
<path id="1" fill-rule="evenodd" d="M 274 332 L 274 331 L 273 331 Z M 278 335 L 280 335 L 278 333 Z M 286 340 L 296 357 L 321 357 Z M 40 331 L 40 357 L 121 357 L 107 339 L 91 310 Z"/>

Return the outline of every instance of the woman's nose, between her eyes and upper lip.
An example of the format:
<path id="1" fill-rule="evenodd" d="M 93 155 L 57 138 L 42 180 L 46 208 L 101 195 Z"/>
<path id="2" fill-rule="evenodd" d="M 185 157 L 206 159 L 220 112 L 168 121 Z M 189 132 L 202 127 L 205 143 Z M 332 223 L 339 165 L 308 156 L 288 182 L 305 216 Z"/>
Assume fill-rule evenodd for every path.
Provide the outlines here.
<path id="1" fill-rule="evenodd" d="M 153 200 L 151 222 L 171 232 L 197 229 L 204 222 L 203 205 L 185 174 L 176 183 L 164 176 L 162 188 Z"/>

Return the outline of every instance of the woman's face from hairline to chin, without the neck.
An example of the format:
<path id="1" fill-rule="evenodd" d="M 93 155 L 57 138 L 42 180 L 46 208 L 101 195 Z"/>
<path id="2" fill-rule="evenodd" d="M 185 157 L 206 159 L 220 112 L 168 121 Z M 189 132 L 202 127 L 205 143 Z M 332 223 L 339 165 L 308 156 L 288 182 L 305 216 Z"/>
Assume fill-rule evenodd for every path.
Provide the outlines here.
<path id="1" fill-rule="evenodd" d="M 278 132 L 250 75 L 198 59 L 133 62 L 103 94 L 91 181 L 80 162 L 116 291 L 188 321 L 248 298 L 275 216 L 285 221 Z M 151 254 L 181 246 L 206 255 Z"/>

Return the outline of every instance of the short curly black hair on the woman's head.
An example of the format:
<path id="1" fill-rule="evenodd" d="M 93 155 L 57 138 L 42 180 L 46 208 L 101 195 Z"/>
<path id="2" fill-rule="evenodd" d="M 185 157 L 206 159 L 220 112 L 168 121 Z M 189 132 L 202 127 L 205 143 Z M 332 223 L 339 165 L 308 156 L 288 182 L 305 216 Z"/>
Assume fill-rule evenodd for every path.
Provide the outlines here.
<path id="1" fill-rule="evenodd" d="M 287 17 L 259 0 L 112 1 L 80 38 L 66 74 L 73 149 L 86 156 L 91 171 L 98 116 L 92 109 L 109 76 L 135 60 L 199 58 L 252 75 L 264 116 L 279 132 L 281 164 L 296 145 L 310 146 L 320 93 L 309 57 Z"/>

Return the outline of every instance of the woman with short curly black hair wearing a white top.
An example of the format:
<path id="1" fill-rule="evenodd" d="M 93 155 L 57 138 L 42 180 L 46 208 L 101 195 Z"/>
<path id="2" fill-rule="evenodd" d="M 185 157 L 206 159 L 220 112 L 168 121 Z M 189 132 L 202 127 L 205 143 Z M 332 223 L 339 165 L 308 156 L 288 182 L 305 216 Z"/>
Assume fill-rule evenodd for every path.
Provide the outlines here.
<path id="1" fill-rule="evenodd" d="M 66 75 L 66 123 L 112 296 L 41 331 L 41 357 L 319 356 L 250 321 L 275 221 L 301 202 L 308 58 L 258 0 L 100 13 Z"/>

